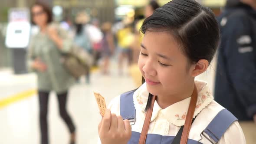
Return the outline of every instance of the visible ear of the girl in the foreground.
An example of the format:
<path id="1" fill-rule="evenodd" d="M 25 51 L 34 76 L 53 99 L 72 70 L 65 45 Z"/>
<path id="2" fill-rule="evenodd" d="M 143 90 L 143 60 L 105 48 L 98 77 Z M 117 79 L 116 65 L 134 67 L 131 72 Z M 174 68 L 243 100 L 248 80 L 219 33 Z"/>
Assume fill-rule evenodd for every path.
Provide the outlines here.
<path id="1" fill-rule="evenodd" d="M 196 77 L 205 72 L 209 66 L 209 62 L 206 59 L 200 59 L 197 64 L 193 65 L 191 76 Z"/>

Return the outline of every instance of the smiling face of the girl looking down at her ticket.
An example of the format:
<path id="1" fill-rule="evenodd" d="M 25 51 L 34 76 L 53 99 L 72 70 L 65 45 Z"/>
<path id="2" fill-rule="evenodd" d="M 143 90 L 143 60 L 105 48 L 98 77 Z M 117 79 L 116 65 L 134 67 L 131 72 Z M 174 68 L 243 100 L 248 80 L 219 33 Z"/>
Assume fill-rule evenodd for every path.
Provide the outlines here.
<path id="1" fill-rule="evenodd" d="M 193 66 L 167 32 L 145 33 L 138 65 L 152 95 L 179 94 L 194 83 Z"/>

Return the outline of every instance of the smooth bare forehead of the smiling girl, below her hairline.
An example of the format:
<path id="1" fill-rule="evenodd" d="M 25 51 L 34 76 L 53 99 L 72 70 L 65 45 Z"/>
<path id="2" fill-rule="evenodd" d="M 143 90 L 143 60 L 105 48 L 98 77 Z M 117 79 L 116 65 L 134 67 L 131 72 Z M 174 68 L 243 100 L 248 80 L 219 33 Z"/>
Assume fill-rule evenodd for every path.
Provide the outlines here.
<path id="1" fill-rule="evenodd" d="M 152 52 L 162 52 L 166 55 L 179 55 L 181 49 L 169 32 L 146 32 L 141 42 L 143 46 Z"/>

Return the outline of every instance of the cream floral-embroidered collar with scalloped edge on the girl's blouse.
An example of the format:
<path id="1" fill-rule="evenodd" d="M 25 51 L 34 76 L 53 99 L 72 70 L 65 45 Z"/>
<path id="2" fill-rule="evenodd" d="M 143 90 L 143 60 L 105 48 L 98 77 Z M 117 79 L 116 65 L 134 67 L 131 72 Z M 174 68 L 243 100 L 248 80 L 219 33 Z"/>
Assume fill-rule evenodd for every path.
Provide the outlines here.
<path id="1" fill-rule="evenodd" d="M 207 82 L 195 80 L 197 86 L 198 98 L 197 105 L 194 112 L 194 118 L 203 110 L 210 102 L 213 101 L 213 95 L 210 93 L 210 88 L 207 85 Z M 136 111 L 142 111 L 145 114 L 144 109 L 146 108 L 148 101 L 148 90 L 147 85 L 144 83 L 135 91 L 134 96 L 134 105 Z M 153 113 L 151 116 L 151 121 L 153 121 L 158 116 L 166 118 L 172 124 L 176 126 L 182 126 L 185 124 L 185 119 L 187 116 L 187 109 L 189 107 L 190 99 L 186 98 L 182 101 L 179 101 L 169 107 L 162 109 L 157 102 L 154 103 Z"/>

